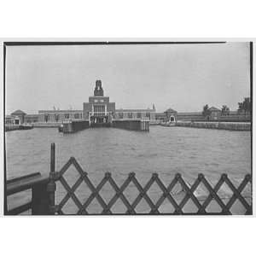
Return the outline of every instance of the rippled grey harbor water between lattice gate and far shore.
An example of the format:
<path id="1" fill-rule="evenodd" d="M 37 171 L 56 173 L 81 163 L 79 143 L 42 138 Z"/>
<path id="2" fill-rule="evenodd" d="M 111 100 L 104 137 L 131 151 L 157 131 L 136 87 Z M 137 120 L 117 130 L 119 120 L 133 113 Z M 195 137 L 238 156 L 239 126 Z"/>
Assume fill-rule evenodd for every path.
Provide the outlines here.
<path id="1" fill-rule="evenodd" d="M 157 172 L 166 185 L 177 172 L 182 174 L 188 184 L 193 183 L 199 173 L 203 173 L 212 184 L 217 183 L 222 173 L 227 173 L 235 184 L 251 173 L 250 131 L 155 125 L 150 126 L 149 132 L 96 128 L 63 135 L 56 128 L 34 128 L 11 131 L 5 136 L 9 179 L 32 172 L 49 173 L 50 143 L 56 144 L 56 171 L 73 156 L 88 172 L 95 186 L 100 183 L 105 172 L 111 172 L 119 185 L 125 181 L 129 172 L 135 172 L 142 184 L 147 183 L 153 172 Z M 79 177 L 73 167 L 65 175 L 71 186 Z M 88 189 L 85 186 L 83 189 L 83 186 L 77 192 L 82 202 L 86 200 L 83 196 Z M 148 191 L 153 197 L 155 195 L 155 200 L 158 197 L 157 190 L 157 186 L 153 186 Z M 61 201 L 65 191 L 61 188 L 58 191 L 60 195 L 57 201 Z M 203 189 L 199 191 L 201 194 L 204 192 Z M 229 189 L 222 192 L 228 195 Z M 106 201 L 114 195 L 109 184 L 101 193 Z M 132 185 L 126 193 L 131 201 L 138 194 Z M 72 209 L 72 203 L 70 200 L 69 209 Z M 96 206 L 96 201 L 94 203 L 89 210 L 100 212 L 101 207 Z M 145 211 L 145 208 L 141 210 Z"/>

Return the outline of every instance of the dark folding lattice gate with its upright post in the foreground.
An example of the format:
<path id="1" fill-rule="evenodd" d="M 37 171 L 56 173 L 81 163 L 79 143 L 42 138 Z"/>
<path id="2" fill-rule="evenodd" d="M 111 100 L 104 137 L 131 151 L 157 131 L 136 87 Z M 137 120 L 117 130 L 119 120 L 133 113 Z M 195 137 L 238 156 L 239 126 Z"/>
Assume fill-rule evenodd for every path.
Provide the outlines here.
<path id="1" fill-rule="evenodd" d="M 175 177 L 172 179 L 172 182 L 166 186 L 158 176 L 157 173 L 153 173 L 148 182 L 145 185 L 142 185 L 136 177 L 134 172 L 131 172 L 125 181 L 118 185 L 111 173 L 107 172 L 105 176 L 102 178 L 101 182 L 96 186 L 91 182 L 90 177 L 88 177 L 87 172 L 84 172 L 81 166 L 75 158 L 71 157 L 70 160 L 61 168 L 60 172 L 55 172 L 55 144 L 52 144 L 52 157 L 51 157 L 51 172 L 49 175 L 49 194 L 51 198 L 51 206 L 50 212 L 52 214 L 66 214 L 67 212 L 63 211 L 63 207 L 67 204 L 67 201 L 73 201 L 75 207 L 77 207 L 77 212 L 73 214 L 116 214 L 113 212 L 112 208 L 114 204 L 120 200 L 125 210 L 120 212 L 119 214 L 141 214 L 142 212 L 137 212 L 136 208 L 139 203 L 144 200 L 148 204 L 149 211 L 143 212 L 143 214 L 224 214 L 230 215 L 231 207 L 233 207 L 236 201 L 239 201 L 241 206 L 245 209 L 245 214 L 252 214 L 252 177 L 250 174 L 247 174 L 241 183 L 236 187 L 231 181 L 230 178 L 223 174 L 218 183 L 215 186 L 212 186 L 207 178 L 203 174 L 199 174 L 195 179 L 195 182 L 192 185 L 188 185 L 181 176 L 181 174 L 177 173 Z M 74 181 L 73 185 L 70 185 L 67 182 L 67 178 L 65 177 L 65 173 L 67 170 L 73 166 L 77 172 L 79 173 L 79 177 Z M 59 182 L 64 188 L 65 195 L 61 199 L 61 201 L 55 205 L 55 189 L 56 183 Z M 80 201 L 78 195 L 76 195 L 76 190 L 82 184 L 85 184 L 89 188 L 88 195 L 84 198 L 87 198 L 85 201 Z M 109 184 L 114 191 L 113 196 L 109 201 L 103 199 L 101 192 L 105 184 Z M 134 189 L 137 189 L 137 196 L 134 200 L 128 200 L 127 196 L 125 196 L 125 189 L 128 188 L 129 185 L 133 185 Z M 183 190 L 183 198 L 181 201 L 177 201 L 176 196 L 172 194 L 172 189 L 179 185 Z M 153 201 L 148 195 L 148 190 L 153 186 L 157 185 L 160 189 L 160 198 L 157 201 Z M 207 191 L 208 195 L 204 200 L 200 200 L 196 195 L 195 191 L 201 185 L 203 185 Z M 218 191 L 222 188 L 223 185 L 229 187 L 232 195 L 228 199 L 223 200 L 219 195 Z M 242 195 L 242 191 L 249 186 L 249 201 L 247 201 L 246 197 Z M 102 207 L 102 211 L 100 213 L 89 212 L 88 208 L 92 201 L 96 200 L 100 206 Z M 169 201 L 172 205 L 173 211 L 170 212 L 161 212 L 160 207 L 162 206 L 164 201 Z M 185 212 L 183 208 L 188 203 L 188 201 L 192 201 L 196 207 L 194 212 Z M 208 212 L 207 207 L 209 204 L 215 201 L 218 204 L 218 208 L 221 210 L 219 212 Z"/>

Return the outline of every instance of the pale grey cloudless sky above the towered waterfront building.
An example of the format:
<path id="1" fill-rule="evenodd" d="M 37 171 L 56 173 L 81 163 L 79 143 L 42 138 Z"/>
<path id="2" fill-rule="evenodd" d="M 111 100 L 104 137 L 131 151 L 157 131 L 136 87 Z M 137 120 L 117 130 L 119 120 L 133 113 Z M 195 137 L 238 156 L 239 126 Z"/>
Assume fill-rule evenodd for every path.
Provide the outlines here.
<path id="1" fill-rule="evenodd" d="M 96 79 L 116 108 L 237 109 L 250 95 L 249 44 L 7 46 L 6 113 L 82 109 Z"/>

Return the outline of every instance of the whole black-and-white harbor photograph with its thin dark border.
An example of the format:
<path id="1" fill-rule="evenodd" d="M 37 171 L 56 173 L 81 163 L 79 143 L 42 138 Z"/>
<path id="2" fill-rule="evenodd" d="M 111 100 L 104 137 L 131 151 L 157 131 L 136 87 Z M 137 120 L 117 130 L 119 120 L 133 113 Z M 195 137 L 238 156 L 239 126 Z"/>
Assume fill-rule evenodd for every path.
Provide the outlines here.
<path id="1" fill-rule="evenodd" d="M 253 42 L 3 42 L 4 215 L 252 215 Z"/>

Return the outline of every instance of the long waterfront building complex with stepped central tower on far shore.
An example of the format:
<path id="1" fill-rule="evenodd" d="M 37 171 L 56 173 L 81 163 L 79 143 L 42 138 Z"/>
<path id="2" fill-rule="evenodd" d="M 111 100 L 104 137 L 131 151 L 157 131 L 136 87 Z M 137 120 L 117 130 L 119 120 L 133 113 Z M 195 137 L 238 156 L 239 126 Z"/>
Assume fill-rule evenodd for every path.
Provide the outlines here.
<path id="1" fill-rule="evenodd" d="M 38 114 L 26 114 L 16 110 L 14 113 L 5 116 L 6 125 L 21 125 L 23 123 L 42 123 L 43 126 L 58 126 L 67 120 L 89 120 L 90 123 L 102 124 L 111 123 L 113 119 L 149 119 L 152 124 L 155 122 L 176 122 L 176 121 L 250 121 L 250 115 L 241 114 L 239 111 L 230 111 L 229 116 L 222 116 L 219 108 L 209 108 L 210 114 L 205 117 L 201 112 L 177 112 L 172 108 L 165 112 L 157 113 L 154 104 L 152 108 L 115 108 L 115 102 L 109 101 L 109 96 L 104 96 L 102 81 L 97 79 L 93 96 L 88 102 L 83 103 L 83 109 L 60 110 L 39 110 Z"/>

